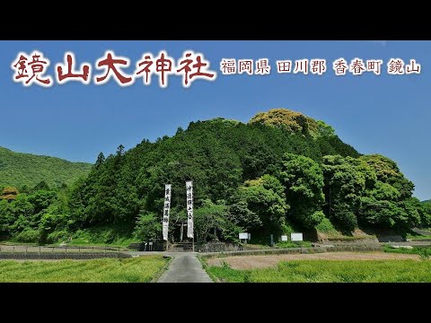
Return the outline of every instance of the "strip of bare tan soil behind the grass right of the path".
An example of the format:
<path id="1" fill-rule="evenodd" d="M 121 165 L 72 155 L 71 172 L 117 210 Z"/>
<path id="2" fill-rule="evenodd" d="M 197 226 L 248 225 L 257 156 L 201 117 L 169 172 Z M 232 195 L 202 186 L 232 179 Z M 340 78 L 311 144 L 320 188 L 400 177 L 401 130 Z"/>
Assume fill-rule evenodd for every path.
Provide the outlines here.
<path id="1" fill-rule="evenodd" d="M 234 256 L 226 258 L 212 258 L 207 260 L 208 266 L 221 266 L 227 262 L 233 269 L 253 269 L 277 266 L 280 261 L 288 260 L 387 260 L 387 259 L 414 259 L 418 255 L 392 254 L 383 252 L 325 252 L 318 254 L 295 254 L 273 256 Z"/>

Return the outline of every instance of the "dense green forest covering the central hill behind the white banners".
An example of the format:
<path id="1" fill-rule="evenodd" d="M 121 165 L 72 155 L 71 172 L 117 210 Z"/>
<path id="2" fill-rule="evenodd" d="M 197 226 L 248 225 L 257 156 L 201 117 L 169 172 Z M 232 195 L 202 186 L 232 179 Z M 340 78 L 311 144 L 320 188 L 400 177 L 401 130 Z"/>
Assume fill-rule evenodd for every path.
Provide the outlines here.
<path id="1" fill-rule="evenodd" d="M 323 121 L 272 109 L 248 124 L 197 121 L 154 143 L 120 145 L 68 187 L 5 188 L 0 234 L 45 243 L 103 227 L 160 240 L 164 184 L 172 184 L 174 224 L 186 219 L 189 179 L 198 241 L 236 240 L 240 231 L 259 240 L 321 223 L 344 232 L 431 226 L 431 205 L 412 197 L 414 185 L 395 162 L 356 152 Z"/>

